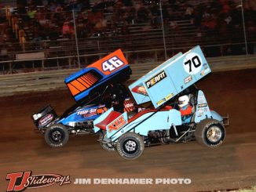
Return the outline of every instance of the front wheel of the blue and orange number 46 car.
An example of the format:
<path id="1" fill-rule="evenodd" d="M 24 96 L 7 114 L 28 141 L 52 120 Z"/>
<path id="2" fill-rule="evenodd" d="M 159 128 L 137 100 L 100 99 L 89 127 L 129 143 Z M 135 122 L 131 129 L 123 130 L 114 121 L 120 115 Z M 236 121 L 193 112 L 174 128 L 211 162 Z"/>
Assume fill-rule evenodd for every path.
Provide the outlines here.
<path id="1" fill-rule="evenodd" d="M 68 138 L 68 129 L 64 125 L 51 125 L 46 129 L 45 140 L 50 147 L 63 147 L 68 142 Z"/>

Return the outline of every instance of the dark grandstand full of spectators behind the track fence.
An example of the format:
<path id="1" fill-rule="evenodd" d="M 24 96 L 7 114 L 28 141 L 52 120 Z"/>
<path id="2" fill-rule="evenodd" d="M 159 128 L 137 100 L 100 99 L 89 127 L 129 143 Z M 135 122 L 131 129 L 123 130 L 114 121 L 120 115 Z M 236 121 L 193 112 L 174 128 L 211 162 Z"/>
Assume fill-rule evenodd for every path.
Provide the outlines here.
<path id="1" fill-rule="evenodd" d="M 163 0 L 163 25 L 159 1 L 14 2 L 0 5 L 2 74 L 78 67 L 75 29 L 82 66 L 119 48 L 130 63 L 165 60 L 163 39 L 168 56 L 194 45 L 207 56 L 246 53 L 240 1 Z M 253 54 L 256 6 L 243 9 Z"/>

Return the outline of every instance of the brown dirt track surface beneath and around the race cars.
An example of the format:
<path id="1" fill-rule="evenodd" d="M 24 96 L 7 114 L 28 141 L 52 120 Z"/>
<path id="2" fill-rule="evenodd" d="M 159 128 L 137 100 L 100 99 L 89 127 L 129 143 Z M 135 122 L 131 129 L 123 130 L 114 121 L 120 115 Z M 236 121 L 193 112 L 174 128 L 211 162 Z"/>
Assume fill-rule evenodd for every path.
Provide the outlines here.
<path id="1" fill-rule="evenodd" d="M 71 184 L 29 191 L 209 191 L 256 185 L 256 70 L 210 74 L 199 82 L 211 109 L 230 116 L 225 143 L 209 149 L 196 142 L 149 147 L 126 161 L 101 149 L 96 136 L 71 136 L 51 148 L 35 133 L 31 114 L 47 103 L 61 114 L 73 100 L 67 91 L 0 98 L 0 191 L 9 172 L 71 176 Z M 189 178 L 192 183 L 152 185 L 75 185 L 75 178 Z M 28 189 L 27 189 L 28 190 Z M 27 191 L 26 190 L 26 191 Z"/>

